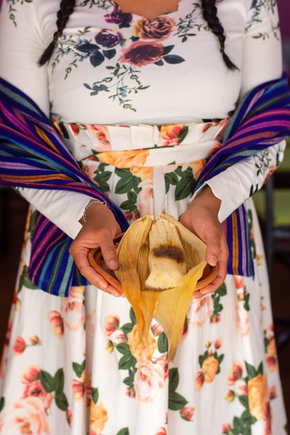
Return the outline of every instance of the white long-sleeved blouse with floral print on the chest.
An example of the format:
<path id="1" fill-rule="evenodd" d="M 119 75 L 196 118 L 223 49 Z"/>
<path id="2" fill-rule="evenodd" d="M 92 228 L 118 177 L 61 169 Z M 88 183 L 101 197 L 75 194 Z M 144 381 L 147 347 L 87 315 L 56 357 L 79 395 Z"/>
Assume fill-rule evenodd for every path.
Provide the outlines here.
<path id="1" fill-rule="evenodd" d="M 229 71 L 218 38 L 204 21 L 199 1 L 180 0 L 178 10 L 154 21 L 122 14 L 111 0 L 79 0 L 48 65 L 38 58 L 56 31 L 60 1 L 3 2 L 0 75 L 58 120 L 84 124 L 175 124 L 223 119 L 259 83 L 280 78 L 282 50 L 275 1 L 217 1 L 225 29 Z M 147 58 L 140 50 L 146 45 Z M 284 145 L 264 151 L 268 167 Z M 277 158 L 278 156 L 278 158 Z M 256 158 L 212 178 L 222 222 L 260 188 Z M 57 190 L 21 189 L 22 195 L 74 238 L 89 197 Z M 51 206 L 53 204 L 53 206 Z"/>

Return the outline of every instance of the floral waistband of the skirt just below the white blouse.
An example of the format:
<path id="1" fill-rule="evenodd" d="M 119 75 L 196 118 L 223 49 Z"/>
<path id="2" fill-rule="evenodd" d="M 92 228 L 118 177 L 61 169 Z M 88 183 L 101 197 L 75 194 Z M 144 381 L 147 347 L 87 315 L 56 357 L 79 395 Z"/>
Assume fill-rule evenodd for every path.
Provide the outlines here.
<path id="1" fill-rule="evenodd" d="M 164 152 L 161 148 L 166 147 L 176 163 L 180 154 L 182 161 L 206 157 L 218 144 L 218 136 L 227 122 L 113 126 L 52 121 L 77 160 L 86 158 L 88 149 L 97 153 L 150 149 L 152 157 L 158 157 Z"/>

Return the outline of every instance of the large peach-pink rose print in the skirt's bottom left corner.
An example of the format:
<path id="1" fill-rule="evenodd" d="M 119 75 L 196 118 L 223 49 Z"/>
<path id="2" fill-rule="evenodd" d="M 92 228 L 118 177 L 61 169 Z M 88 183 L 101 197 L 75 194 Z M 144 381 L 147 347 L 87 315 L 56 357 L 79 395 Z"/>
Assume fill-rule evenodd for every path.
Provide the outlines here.
<path id="1" fill-rule="evenodd" d="M 50 434 L 42 400 L 26 397 L 13 404 L 13 408 L 0 417 L 2 434 Z"/>

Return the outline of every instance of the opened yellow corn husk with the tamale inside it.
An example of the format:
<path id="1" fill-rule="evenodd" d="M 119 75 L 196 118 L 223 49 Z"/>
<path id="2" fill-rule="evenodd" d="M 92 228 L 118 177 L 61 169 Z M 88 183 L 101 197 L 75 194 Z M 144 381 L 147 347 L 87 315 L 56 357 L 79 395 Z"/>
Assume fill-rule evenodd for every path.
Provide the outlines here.
<path id="1" fill-rule="evenodd" d="M 156 225 L 155 225 L 156 224 Z M 186 310 L 207 265 L 206 245 L 168 215 L 141 217 L 117 248 L 115 272 L 134 309 L 140 345 L 149 340 L 152 318 L 163 328 L 172 360 L 182 336 Z"/>

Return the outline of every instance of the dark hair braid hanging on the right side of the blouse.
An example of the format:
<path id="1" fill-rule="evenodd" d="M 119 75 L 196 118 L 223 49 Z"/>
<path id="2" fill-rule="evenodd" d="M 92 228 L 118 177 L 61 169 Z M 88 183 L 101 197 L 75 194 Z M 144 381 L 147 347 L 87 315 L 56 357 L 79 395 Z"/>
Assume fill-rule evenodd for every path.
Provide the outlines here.
<path id="1" fill-rule="evenodd" d="M 216 35 L 220 42 L 220 53 L 223 56 L 225 65 L 232 70 L 238 69 L 225 53 L 225 31 L 218 19 L 216 0 L 202 0 L 202 15 L 207 21 L 209 28 L 213 31 L 214 35 Z"/>

